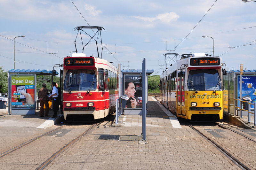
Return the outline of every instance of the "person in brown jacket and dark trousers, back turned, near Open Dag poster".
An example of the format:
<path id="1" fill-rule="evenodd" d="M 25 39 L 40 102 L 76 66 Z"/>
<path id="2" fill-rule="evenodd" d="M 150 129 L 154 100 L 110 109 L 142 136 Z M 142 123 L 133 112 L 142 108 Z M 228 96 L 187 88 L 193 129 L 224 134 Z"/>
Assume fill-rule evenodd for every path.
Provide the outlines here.
<path id="1" fill-rule="evenodd" d="M 37 97 L 40 102 L 40 113 L 39 117 L 44 117 L 44 105 L 45 105 L 45 116 L 49 116 L 49 103 L 48 103 L 48 90 L 46 89 L 46 84 L 43 83 L 42 88 L 38 91 Z"/>

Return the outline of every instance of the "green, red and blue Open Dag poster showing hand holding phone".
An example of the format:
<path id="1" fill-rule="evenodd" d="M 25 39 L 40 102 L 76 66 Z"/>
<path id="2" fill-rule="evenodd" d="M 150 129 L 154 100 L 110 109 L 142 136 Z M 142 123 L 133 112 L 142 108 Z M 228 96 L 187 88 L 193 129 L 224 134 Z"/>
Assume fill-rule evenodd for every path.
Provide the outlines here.
<path id="1" fill-rule="evenodd" d="M 35 75 L 11 75 L 12 109 L 35 109 Z"/>

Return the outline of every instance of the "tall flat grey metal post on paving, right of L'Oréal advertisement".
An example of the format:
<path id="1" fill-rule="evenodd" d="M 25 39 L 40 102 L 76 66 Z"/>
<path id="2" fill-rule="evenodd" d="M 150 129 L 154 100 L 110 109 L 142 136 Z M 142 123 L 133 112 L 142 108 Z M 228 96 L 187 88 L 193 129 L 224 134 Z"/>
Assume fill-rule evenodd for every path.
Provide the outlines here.
<path id="1" fill-rule="evenodd" d="M 142 59 L 142 141 L 146 139 L 146 58 Z"/>

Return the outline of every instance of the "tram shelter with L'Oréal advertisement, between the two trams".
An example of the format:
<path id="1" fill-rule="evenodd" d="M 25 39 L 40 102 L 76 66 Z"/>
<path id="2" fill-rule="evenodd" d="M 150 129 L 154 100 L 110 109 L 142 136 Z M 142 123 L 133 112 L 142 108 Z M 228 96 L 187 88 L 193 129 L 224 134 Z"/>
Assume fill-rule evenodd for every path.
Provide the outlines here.
<path id="1" fill-rule="evenodd" d="M 142 114 L 142 69 L 123 69 L 121 95 L 127 96 L 126 105 L 122 106 L 124 114 Z M 146 69 L 146 109 L 148 108 L 148 75 L 153 69 Z M 123 100 L 122 100 L 123 101 Z"/>

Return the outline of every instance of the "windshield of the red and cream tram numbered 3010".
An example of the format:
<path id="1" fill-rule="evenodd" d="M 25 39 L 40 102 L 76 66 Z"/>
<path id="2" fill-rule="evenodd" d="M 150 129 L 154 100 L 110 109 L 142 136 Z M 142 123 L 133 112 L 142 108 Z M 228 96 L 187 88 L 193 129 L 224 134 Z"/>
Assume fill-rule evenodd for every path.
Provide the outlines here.
<path id="1" fill-rule="evenodd" d="M 96 90 L 96 75 L 93 70 L 69 70 L 64 80 L 64 91 Z"/>

